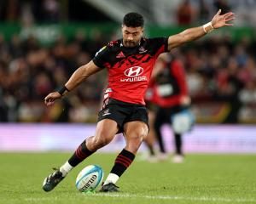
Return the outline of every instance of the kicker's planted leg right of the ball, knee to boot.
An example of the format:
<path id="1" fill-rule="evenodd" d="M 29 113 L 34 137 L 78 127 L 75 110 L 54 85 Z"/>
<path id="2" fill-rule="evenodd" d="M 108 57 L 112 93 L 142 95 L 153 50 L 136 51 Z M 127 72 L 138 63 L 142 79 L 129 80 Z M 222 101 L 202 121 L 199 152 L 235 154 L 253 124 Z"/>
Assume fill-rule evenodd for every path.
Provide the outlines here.
<path id="1" fill-rule="evenodd" d="M 102 186 L 103 192 L 118 191 L 115 183 L 119 177 L 125 173 L 125 170 L 134 160 L 137 150 L 143 142 L 143 138 L 148 134 L 148 125 L 145 122 L 126 122 L 124 126 L 124 135 L 126 140 L 125 149 L 123 149 L 114 161 L 113 168 L 108 174 L 108 178 Z"/>

